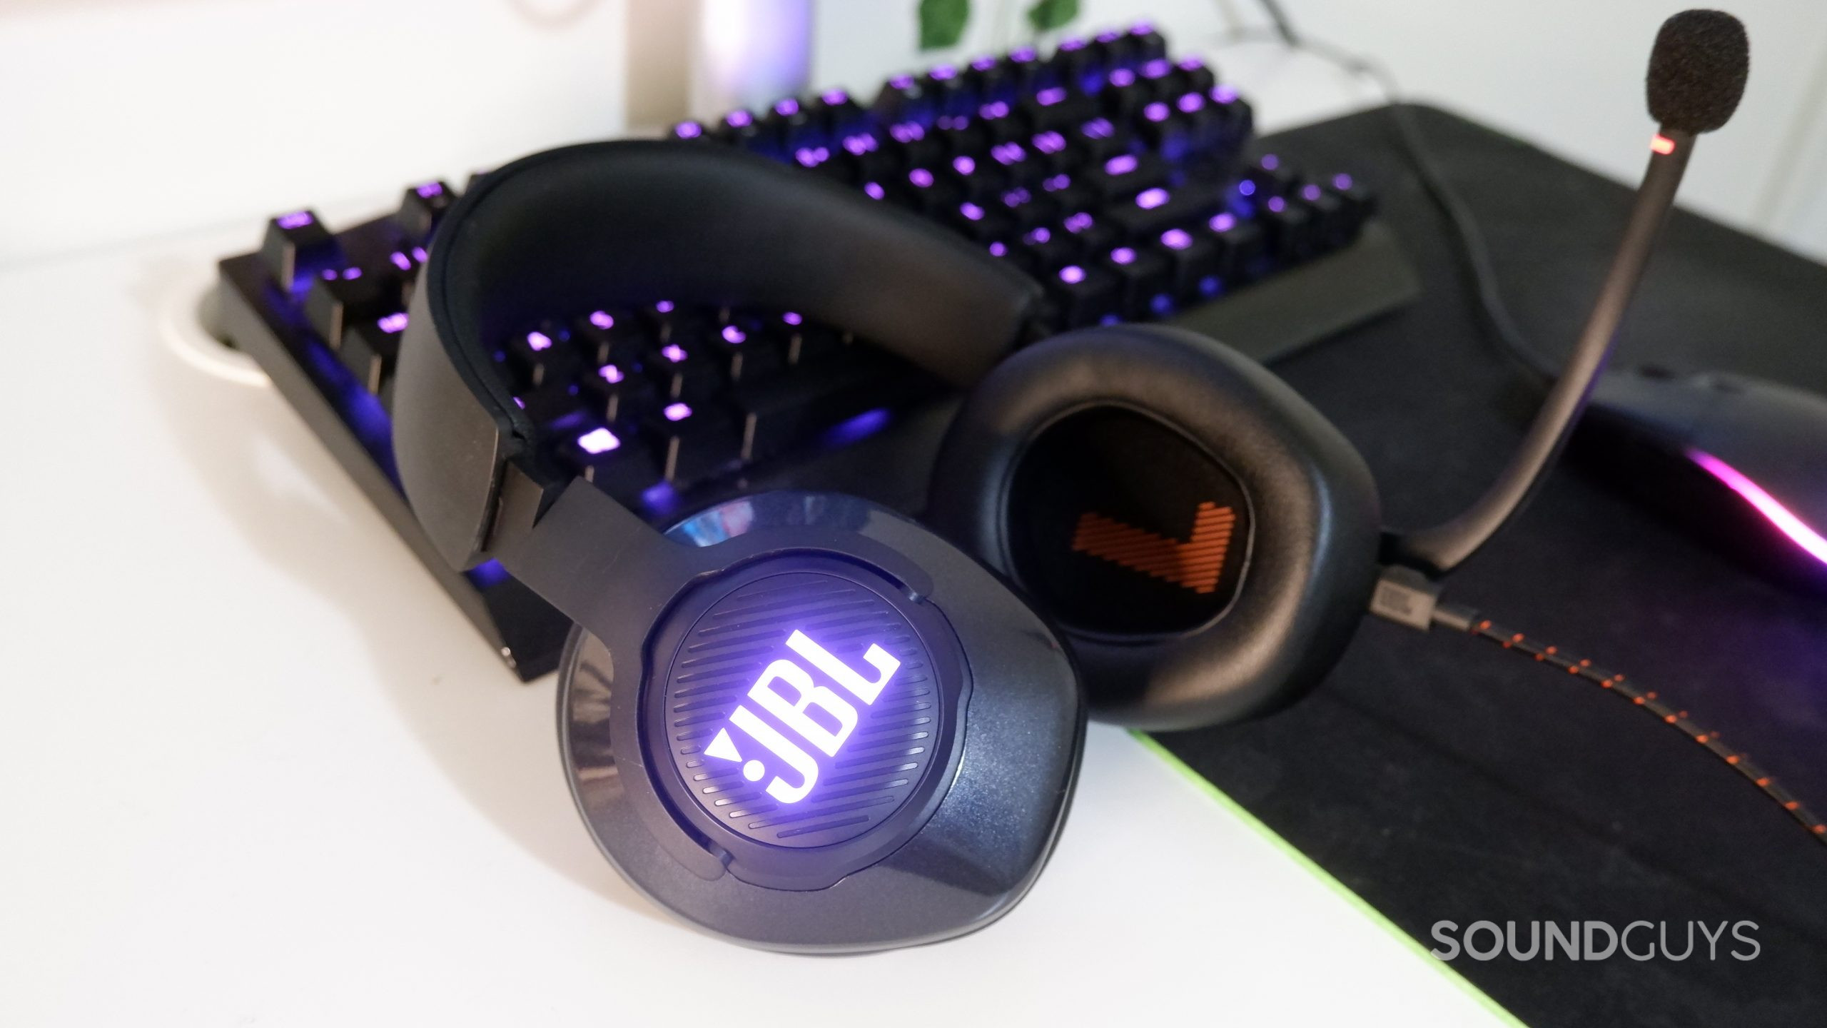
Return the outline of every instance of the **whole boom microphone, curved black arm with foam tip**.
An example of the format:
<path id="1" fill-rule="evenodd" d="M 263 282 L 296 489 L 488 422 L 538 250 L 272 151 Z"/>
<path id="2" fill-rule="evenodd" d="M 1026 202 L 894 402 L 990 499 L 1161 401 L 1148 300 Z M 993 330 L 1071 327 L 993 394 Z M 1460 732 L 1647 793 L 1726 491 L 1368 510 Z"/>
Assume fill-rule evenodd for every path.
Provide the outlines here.
<path id="1" fill-rule="evenodd" d="M 1498 479 L 1452 519 L 1394 540 L 1392 560 L 1438 578 L 1491 540 L 1529 499 L 1586 408 L 1617 338 L 1617 326 L 1642 278 L 1655 236 L 1675 201 L 1695 135 L 1732 117 L 1750 73 L 1745 26 L 1725 11 L 1683 11 L 1655 35 L 1646 91 L 1659 132 L 1650 141 L 1650 168 L 1624 227 L 1599 302 L 1586 318 L 1542 410 Z"/>

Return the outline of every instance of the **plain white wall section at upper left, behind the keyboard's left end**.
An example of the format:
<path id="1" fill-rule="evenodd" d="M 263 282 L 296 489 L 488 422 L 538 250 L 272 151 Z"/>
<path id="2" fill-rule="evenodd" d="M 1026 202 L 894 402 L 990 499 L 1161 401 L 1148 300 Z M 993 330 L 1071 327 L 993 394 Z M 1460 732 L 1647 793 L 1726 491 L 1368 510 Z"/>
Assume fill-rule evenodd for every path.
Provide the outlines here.
<path id="1" fill-rule="evenodd" d="M 621 0 L 0 0 L 0 267 L 623 128 Z"/>

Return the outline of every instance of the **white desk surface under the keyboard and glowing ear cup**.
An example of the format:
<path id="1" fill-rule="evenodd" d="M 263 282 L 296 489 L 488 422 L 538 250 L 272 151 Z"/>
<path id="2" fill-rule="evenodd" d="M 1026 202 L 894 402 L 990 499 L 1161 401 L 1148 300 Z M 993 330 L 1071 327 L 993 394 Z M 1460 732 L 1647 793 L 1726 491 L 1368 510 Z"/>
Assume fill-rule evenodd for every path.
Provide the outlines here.
<path id="1" fill-rule="evenodd" d="M 254 234 L 0 273 L 0 1024 L 1504 1021 L 1105 726 L 987 931 L 806 958 L 676 924 L 585 836 L 552 679 L 270 388 L 163 337 Z"/>

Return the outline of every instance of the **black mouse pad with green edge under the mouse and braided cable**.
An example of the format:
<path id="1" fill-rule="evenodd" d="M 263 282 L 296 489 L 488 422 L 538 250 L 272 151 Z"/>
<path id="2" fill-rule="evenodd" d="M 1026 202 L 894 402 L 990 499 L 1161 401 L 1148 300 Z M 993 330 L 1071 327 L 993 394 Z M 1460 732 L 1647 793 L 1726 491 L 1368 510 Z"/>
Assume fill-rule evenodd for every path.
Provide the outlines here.
<path id="1" fill-rule="evenodd" d="M 1516 320 L 1566 353 L 1633 187 L 1438 110 L 1418 117 Z M 1648 141 L 1644 123 L 1644 159 Z M 1262 146 L 1372 183 L 1420 269 L 1420 304 L 1275 369 L 1363 450 L 1390 527 L 1440 521 L 1489 485 L 1533 397 L 1480 331 L 1387 110 Z M 1734 161 L 1732 146 L 1730 128 L 1703 137 L 1695 166 Z M 1827 391 L 1827 267 L 1677 212 L 1621 338 L 1619 364 L 1646 360 Z M 1827 810 L 1827 600 L 1747 574 L 1577 463 L 1447 600 L 1657 690 Z M 1304 702 L 1156 739 L 1429 948 L 1442 920 L 1516 922 L 1524 944 L 1529 922 L 1668 922 L 1675 955 L 1688 922 L 1756 924 L 1741 929 L 1750 960 L 1730 955 L 1752 951 L 1730 933 L 1716 958 L 1697 937 L 1684 960 L 1452 960 L 1529 1024 L 1827 1024 L 1827 847 L 1692 739 L 1577 677 L 1367 620 Z"/>

